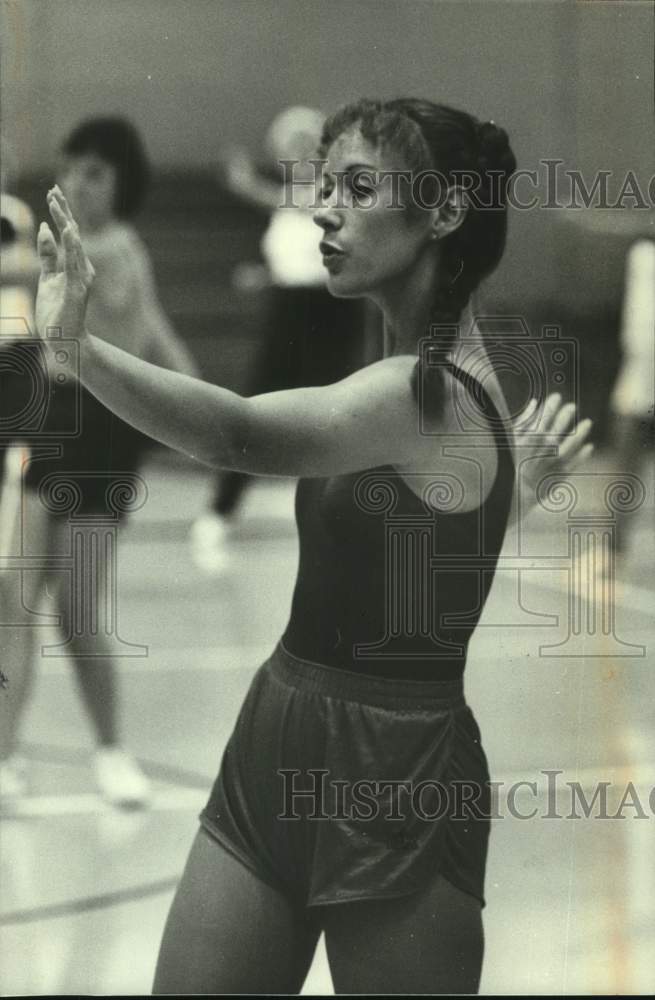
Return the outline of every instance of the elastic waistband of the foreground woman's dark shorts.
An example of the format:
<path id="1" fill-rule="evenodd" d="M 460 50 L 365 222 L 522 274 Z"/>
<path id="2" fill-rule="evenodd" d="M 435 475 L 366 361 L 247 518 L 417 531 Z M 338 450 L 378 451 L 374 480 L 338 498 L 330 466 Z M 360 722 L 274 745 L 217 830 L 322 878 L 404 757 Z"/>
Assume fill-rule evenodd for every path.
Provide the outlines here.
<path id="1" fill-rule="evenodd" d="M 371 677 L 366 674 L 365 668 L 357 673 L 301 659 L 290 653 L 282 642 L 278 643 L 269 663 L 273 674 L 290 687 L 342 701 L 380 708 L 424 708 L 429 711 L 466 706 L 464 682 L 461 678 L 450 681 L 417 681 Z M 438 669 L 438 665 L 435 665 L 435 670 Z"/>

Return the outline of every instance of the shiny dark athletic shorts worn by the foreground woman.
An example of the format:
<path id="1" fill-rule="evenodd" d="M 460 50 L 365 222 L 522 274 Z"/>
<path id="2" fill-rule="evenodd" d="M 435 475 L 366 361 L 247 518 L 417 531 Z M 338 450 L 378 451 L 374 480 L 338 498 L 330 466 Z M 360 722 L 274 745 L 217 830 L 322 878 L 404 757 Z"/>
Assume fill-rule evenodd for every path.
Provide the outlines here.
<path id="1" fill-rule="evenodd" d="M 409 895 L 442 874 L 484 906 L 487 760 L 463 682 L 259 668 L 200 815 L 295 904 Z"/>

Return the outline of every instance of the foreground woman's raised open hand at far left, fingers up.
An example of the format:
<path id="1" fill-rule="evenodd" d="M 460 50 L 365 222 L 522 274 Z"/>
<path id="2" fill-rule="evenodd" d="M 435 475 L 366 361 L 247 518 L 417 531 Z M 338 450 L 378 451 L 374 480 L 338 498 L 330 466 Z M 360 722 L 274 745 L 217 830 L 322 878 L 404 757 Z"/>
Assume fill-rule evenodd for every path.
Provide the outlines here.
<path id="1" fill-rule="evenodd" d="M 84 252 L 80 231 L 58 186 L 47 195 L 48 209 L 61 238 L 60 256 L 55 237 L 41 223 L 37 250 L 41 264 L 36 296 L 36 327 L 41 337 L 81 339 L 85 335 L 86 304 L 95 271 Z"/>

